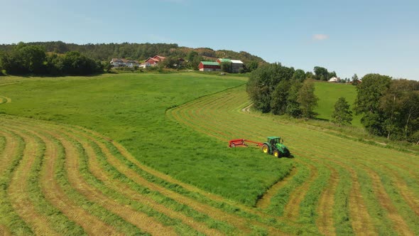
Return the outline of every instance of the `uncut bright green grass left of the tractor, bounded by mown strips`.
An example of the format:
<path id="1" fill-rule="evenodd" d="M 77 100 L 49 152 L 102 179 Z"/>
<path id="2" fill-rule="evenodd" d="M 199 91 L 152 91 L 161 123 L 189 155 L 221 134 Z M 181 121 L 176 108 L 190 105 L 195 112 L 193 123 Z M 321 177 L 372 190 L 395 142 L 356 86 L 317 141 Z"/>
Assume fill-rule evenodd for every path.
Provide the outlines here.
<path id="1" fill-rule="evenodd" d="M 290 168 L 287 160 L 254 161 L 259 150 L 237 155 L 224 142 L 165 116 L 168 107 L 243 85 L 246 78 L 183 73 L 33 80 L 1 86 L 0 94 L 12 102 L 0 112 L 94 129 L 143 163 L 227 198 L 253 204 Z"/>

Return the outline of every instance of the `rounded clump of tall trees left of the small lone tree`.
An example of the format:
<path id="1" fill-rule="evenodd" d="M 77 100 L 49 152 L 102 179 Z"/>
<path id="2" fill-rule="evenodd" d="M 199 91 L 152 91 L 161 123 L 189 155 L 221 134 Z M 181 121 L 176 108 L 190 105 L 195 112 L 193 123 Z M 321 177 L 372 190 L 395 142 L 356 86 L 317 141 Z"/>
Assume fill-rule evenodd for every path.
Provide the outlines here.
<path id="1" fill-rule="evenodd" d="M 310 119 L 315 116 L 314 82 L 304 70 L 281 63 L 264 64 L 254 70 L 246 87 L 254 108 L 263 113 L 288 114 Z"/>

